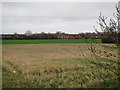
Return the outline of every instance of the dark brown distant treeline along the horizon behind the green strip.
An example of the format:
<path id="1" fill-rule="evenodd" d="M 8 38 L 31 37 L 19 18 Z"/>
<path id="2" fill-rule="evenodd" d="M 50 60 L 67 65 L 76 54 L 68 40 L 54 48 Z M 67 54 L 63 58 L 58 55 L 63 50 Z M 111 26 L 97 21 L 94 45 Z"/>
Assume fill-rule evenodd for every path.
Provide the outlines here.
<path id="1" fill-rule="evenodd" d="M 2 40 L 34 40 L 34 39 L 102 39 L 103 43 L 114 43 L 104 35 L 97 33 L 37 33 L 37 34 L 1 34 Z"/>

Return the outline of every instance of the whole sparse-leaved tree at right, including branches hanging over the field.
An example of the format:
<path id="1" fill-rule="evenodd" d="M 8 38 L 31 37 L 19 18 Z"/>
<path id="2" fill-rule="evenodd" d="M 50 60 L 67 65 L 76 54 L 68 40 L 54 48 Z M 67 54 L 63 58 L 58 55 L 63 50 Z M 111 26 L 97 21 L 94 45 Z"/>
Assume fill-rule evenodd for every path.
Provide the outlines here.
<path id="1" fill-rule="evenodd" d="M 119 56 L 117 56 L 117 54 L 119 52 L 116 52 L 119 49 L 119 30 L 120 30 L 120 2 L 119 5 L 116 5 L 116 18 L 115 19 L 110 19 L 109 23 L 106 22 L 107 17 L 104 17 L 101 15 L 99 16 L 99 26 L 101 28 L 100 32 L 99 30 L 97 30 L 95 27 L 96 32 L 99 35 L 104 36 L 102 39 L 105 42 L 110 42 L 110 43 L 117 43 L 113 44 L 113 46 L 110 46 L 108 44 L 99 44 L 99 43 L 92 43 L 90 41 L 88 41 L 89 43 L 87 43 L 87 47 L 91 53 L 91 58 L 87 57 L 86 54 L 84 54 L 84 49 L 80 48 L 80 52 L 82 54 L 82 56 L 84 58 L 86 58 L 86 60 L 88 60 L 89 62 L 91 62 L 92 64 L 94 64 L 97 68 L 98 68 L 98 72 L 100 73 L 100 79 L 103 80 L 103 82 L 106 82 L 106 78 L 109 78 L 109 75 L 111 76 L 116 76 L 116 78 L 114 79 L 116 82 L 114 82 L 114 85 L 118 85 L 119 86 L 119 79 L 120 79 L 120 61 L 117 60 L 119 58 Z M 100 48 L 101 47 L 101 48 Z M 103 48 L 103 49 L 102 49 Z M 105 62 L 106 61 L 110 61 L 110 62 Z M 112 63 L 111 63 L 112 62 Z M 103 78 L 103 74 L 102 72 L 100 72 L 100 69 L 103 69 L 104 71 L 107 71 L 109 73 L 105 74 L 105 77 Z M 110 76 L 110 77 L 111 77 Z M 111 81 L 112 82 L 112 81 Z M 105 83 L 104 83 L 105 84 Z M 108 82 L 106 82 L 107 85 L 109 85 Z"/>

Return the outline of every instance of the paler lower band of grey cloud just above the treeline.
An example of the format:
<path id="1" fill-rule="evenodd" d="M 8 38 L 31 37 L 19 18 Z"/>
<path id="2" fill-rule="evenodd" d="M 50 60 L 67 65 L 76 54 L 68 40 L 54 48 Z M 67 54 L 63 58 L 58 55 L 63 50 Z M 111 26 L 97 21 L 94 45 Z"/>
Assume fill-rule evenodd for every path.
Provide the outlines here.
<path id="1" fill-rule="evenodd" d="M 96 18 L 64 20 L 63 18 L 3 17 L 3 33 L 6 31 L 8 33 L 24 33 L 28 29 L 34 33 L 56 32 L 57 30 L 67 33 L 89 32 L 95 24 Z"/>

